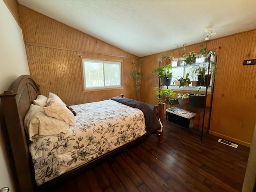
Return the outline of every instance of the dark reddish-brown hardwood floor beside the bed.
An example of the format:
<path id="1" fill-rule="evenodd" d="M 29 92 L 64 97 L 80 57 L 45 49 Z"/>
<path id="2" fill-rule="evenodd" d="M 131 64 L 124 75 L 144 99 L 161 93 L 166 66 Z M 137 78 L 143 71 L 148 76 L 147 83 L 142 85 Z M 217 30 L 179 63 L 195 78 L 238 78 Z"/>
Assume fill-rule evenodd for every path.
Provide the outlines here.
<path id="1" fill-rule="evenodd" d="M 152 135 L 86 172 L 67 178 L 54 192 L 239 192 L 250 148 L 233 148 L 165 120 L 164 143 Z"/>

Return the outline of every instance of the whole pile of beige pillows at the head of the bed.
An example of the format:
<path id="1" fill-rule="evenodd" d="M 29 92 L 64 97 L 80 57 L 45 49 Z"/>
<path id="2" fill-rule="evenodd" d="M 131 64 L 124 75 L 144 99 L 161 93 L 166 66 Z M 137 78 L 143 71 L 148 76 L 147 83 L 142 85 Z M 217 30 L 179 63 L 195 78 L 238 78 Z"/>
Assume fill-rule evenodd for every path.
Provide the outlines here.
<path id="1" fill-rule="evenodd" d="M 74 114 L 54 93 L 49 93 L 48 98 L 38 95 L 24 119 L 24 126 L 31 141 L 42 136 L 66 134 L 69 126 L 75 124 Z"/>

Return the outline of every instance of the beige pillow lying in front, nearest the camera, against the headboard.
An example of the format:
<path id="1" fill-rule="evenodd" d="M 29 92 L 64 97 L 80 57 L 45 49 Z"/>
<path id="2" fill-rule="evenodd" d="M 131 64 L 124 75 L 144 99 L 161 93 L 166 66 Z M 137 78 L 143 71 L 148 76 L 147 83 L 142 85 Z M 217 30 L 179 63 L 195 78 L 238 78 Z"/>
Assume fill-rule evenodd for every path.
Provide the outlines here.
<path id="1" fill-rule="evenodd" d="M 31 141 L 36 135 L 38 137 L 66 134 L 69 128 L 66 122 L 47 116 L 43 107 L 34 104 L 31 104 L 25 116 L 24 126 Z"/>

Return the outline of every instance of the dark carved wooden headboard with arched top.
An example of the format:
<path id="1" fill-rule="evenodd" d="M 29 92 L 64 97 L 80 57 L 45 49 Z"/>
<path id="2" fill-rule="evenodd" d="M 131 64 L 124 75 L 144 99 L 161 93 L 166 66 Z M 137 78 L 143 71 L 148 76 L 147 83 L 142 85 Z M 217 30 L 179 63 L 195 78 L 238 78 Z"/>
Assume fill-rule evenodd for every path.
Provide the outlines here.
<path id="1" fill-rule="evenodd" d="M 20 191 L 33 191 L 34 177 L 31 175 L 30 156 L 23 120 L 33 100 L 40 94 L 30 75 L 15 80 L 8 91 L 0 94 L 6 128 L 8 130 Z M 24 190 L 25 189 L 25 190 Z"/>

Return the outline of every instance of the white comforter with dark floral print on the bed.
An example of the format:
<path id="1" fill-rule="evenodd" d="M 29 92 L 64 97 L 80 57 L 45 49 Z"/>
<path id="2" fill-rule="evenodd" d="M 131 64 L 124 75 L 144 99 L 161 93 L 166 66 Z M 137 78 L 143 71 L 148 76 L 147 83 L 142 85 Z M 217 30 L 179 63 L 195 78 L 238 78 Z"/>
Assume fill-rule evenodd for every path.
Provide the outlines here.
<path id="1" fill-rule="evenodd" d="M 37 138 L 29 146 L 38 186 L 146 134 L 139 109 L 113 100 L 70 107 L 77 115 L 68 134 Z"/>

